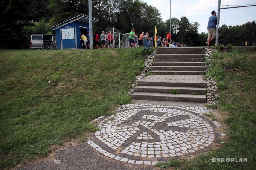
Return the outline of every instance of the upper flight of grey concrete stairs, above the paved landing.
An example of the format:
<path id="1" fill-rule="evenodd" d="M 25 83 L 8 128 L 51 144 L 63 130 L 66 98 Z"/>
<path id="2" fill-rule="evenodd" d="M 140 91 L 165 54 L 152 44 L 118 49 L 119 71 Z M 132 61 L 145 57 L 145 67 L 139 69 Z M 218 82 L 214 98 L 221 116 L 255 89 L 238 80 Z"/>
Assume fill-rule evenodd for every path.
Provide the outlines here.
<path id="1" fill-rule="evenodd" d="M 159 48 L 151 72 L 168 75 L 203 75 L 203 47 Z"/>

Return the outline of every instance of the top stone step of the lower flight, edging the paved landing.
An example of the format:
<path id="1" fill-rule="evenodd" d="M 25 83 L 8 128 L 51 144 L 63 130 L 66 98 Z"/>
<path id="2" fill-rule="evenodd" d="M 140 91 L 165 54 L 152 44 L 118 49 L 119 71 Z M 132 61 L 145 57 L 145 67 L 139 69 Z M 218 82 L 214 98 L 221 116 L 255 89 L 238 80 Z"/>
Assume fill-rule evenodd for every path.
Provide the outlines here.
<path id="1" fill-rule="evenodd" d="M 165 86 L 165 87 L 197 87 L 205 88 L 204 80 L 159 80 L 159 79 L 141 79 L 137 86 Z"/>

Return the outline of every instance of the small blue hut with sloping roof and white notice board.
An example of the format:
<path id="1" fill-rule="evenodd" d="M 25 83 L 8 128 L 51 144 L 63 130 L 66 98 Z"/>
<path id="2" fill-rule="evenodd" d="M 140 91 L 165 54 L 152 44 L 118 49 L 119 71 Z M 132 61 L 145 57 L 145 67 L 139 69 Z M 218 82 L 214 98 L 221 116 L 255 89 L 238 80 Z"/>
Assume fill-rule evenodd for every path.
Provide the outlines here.
<path id="1" fill-rule="evenodd" d="M 93 23 L 98 19 L 93 17 Z M 68 20 L 62 21 L 50 27 L 56 32 L 56 41 L 60 49 L 82 49 L 81 34 L 89 32 L 89 16 L 85 14 L 76 15 Z"/>

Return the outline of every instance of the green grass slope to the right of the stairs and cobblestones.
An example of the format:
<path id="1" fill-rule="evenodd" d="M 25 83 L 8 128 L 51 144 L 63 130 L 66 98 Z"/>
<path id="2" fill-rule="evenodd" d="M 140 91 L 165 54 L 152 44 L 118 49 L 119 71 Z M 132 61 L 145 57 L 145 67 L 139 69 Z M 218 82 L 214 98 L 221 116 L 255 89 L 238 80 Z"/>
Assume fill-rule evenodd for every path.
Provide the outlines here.
<path id="1" fill-rule="evenodd" d="M 217 150 L 184 161 L 178 169 L 253 170 L 256 167 L 256 53 L 216 52 L 208 74 L 221 87 L 217 107 L 228 126 L 227 139 Z M 212 157 L 248 158 L 248 162 L 214 163 Z"/>

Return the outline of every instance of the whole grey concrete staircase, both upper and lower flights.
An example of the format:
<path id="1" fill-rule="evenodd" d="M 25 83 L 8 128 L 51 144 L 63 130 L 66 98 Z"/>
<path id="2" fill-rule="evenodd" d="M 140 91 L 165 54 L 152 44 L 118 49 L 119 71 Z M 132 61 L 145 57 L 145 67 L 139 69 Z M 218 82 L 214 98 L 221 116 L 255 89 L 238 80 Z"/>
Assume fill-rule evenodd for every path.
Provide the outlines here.
<path id="1" fill-rule="evenodd" d="M 151 72 L 157 75 L 203 75 L 203 47 L 159 48 Z M 133 99 L 206 103 L 204 80 L 142 79 Z"/>

